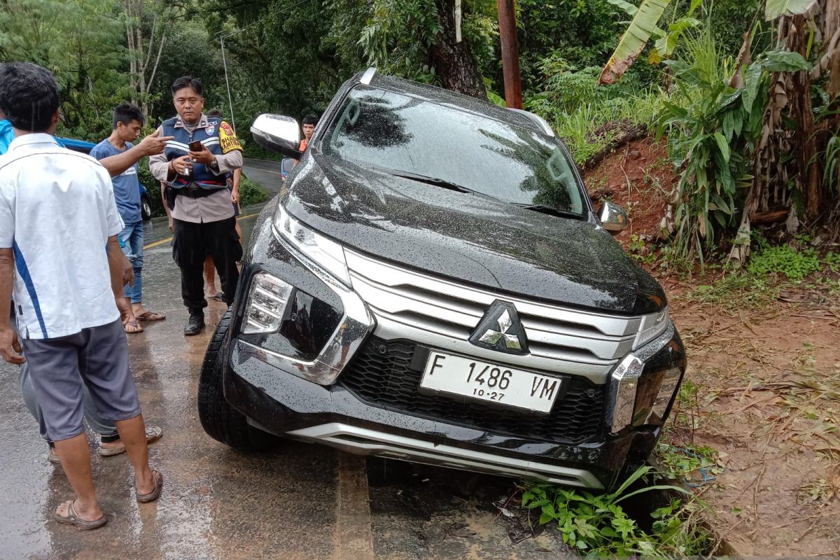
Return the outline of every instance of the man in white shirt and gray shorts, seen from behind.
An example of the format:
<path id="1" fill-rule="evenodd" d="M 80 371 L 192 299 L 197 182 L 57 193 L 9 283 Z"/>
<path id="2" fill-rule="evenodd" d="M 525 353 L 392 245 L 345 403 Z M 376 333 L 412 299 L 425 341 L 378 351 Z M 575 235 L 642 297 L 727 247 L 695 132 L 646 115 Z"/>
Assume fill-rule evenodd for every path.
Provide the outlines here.
<path id="1" fill-rule="evenodd" d="M 16 138 L 0 156 L 0 355 L 32 366 L 35 394 L 76 500 L 55 519 L 105 525 L 82 425 L 82 385 L 114 421 L 134 466 L 138 501 L 156 500 L 163 478 L 149 466 L 143 416 L 113 292 L 123 285 L 123 228 L 108 171 L 52 138 L 58 87 L 29 63 L 0 65 L 0 112 Z M 110 272 L 110 274 L 108 274 Z M 10 326 L 14 296 L 18 338 Z M 84 379 L 84 381 L 82 380 Z"/>

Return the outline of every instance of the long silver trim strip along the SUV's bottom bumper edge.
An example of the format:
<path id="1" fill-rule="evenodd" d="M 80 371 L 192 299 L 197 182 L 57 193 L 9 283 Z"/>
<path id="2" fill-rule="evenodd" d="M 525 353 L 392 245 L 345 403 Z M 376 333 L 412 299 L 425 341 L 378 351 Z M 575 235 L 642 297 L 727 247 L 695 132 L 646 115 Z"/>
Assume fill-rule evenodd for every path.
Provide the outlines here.
<path id="1" fill-rule="evenodd" d="M 449 445 L 437 445 L 412 437 L 395 436 L 339 422 L 286 432 L 286 435 L 339 447 L 350 453 L 514 478 L 540 479 L 580 488 L 603 488 L 603 484 L 596 479 L 594 474 L 580 468 L 560 467 Z"/>

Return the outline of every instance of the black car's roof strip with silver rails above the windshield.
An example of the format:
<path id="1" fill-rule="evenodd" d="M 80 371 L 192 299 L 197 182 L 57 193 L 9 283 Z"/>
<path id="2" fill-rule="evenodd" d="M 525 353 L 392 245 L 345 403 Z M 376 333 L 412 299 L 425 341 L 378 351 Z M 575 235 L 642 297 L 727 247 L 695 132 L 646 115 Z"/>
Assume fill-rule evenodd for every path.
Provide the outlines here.
<path id="1" fill-rule="evenodd" d="M 370 76 L 370 77 L 367 77 Z M 363 77 L 366 79 L 363 80 Z M 526 113 L 524 111 L 516 111 L 499 107 L 491 102 L 483 101 L 475 97 L 470 97 L 463 93 L 453 92 L 444 89 L 443 87 L 430 86 L 422 84 L 417 81 L 405 80 L 394 76 L 386 76 L 375 72 L 374 69 L 369 69 L 367 72 L 360 72 L 354 76 L 353 81 L 356 83 L 370 84 L 373 87 L 388 90 L 395 93 L 406 93 L 413 97 L 420 97 L 429 102 L 446 105 L 457 108 L 467 113 L 474 113 L 483 117 L 489 117 L 501 123 L 511 124 L 520 128 L 543 134 L 554 136 L 554 132 L 548 134 L 546 128 L 550 130 L 548 123 L 544 127 L 538 121 L 542 120 L 533 113 Z"/>

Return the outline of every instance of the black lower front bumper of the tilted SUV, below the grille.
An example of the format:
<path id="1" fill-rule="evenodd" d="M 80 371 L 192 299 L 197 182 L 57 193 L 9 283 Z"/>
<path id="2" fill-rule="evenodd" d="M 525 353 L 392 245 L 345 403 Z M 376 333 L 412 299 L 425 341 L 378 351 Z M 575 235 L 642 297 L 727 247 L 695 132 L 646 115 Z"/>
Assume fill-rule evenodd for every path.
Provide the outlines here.
<path id="1" fill-rule="evenodd" d="M 340 385 L 283 374 L 237 344 L 231 350 L 225 398 L 255 427 L 352 453 L 599 489 L 612 486 L 628 461 L 643 461 L 658 436 L 637 430 L 562 445 L 483 432 L 370 406 Z"/>

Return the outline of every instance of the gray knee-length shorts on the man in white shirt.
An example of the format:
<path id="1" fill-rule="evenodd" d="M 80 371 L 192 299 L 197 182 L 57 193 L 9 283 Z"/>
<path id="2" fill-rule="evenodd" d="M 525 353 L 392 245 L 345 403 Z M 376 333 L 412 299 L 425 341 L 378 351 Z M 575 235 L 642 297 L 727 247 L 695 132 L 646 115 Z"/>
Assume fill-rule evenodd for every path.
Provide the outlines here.
<path id="1" fill-rule="evenodd" d="M 105 420 L 129 420 L 140 414 L 122 322 L 82 329 L 69 337 L 20 342 L 47 434 L 54 442 L 85 432 L 82 384 Z"/>

